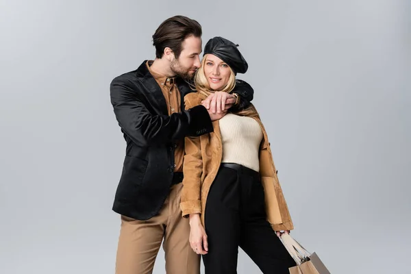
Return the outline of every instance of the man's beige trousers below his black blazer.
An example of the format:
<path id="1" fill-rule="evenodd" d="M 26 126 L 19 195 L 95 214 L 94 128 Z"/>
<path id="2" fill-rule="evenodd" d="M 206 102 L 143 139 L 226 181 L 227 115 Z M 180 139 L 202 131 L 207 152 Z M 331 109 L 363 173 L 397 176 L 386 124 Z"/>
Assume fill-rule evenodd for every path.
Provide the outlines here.
<path id="1" fill-rule="evenodd" d="M 116 274 L 150 274 L 163 242 L 167 274 L 199 274 L 200 256 L 190 248 L 190 225 L 179 208 L 182 184 L 171 187 L 160 212 L 146 221 L 121 216 Z"/>

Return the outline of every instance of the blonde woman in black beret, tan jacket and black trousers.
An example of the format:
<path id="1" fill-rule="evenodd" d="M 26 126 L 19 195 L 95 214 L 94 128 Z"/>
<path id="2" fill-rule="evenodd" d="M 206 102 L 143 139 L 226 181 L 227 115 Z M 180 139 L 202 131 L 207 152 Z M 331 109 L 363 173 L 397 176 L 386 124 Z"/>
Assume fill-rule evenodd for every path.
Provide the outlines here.
<path id="1" fill-rule="evenodd" d="M 236 73 L 248 69 L 237 46 L 221 37 L 208 41 L 197 92 L 184 98 L 187 109 L 233 90 Z M 206 273 L 236 273 L 238 247 L 263 273 L 288 273 L 295 262 L 279 236 L 293 225 L 258 112 L 253 105 L 234 110 L 213 126 L 211 134 L 185 140 L 180 206 L 190 217 L 192 249 L 203 256 Z"/>

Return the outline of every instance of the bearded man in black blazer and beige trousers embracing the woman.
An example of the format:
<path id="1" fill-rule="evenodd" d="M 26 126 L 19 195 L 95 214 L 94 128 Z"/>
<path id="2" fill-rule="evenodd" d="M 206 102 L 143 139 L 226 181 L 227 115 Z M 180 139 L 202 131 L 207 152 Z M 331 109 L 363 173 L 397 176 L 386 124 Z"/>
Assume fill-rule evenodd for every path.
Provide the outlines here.
<path id="1" fill-rule="evenodd" d="M 127 149 L 113 210 L 121 214 L 117 274 L 152 273 L 164 238 L 166 273 L 199 273 L 190 249 L 188 219 L 179 208 L 184 137 L 213 131 L 227 108 L 244 108 L 252 88 L 238 82 L 236 95 L 216 92 L 184 110 L 188 80 L 200 66 L 201 25 L 185 16 L 164 21 L 153 34 L 155 60 L 116 77 L 110 86 L 114 114 Z"/>

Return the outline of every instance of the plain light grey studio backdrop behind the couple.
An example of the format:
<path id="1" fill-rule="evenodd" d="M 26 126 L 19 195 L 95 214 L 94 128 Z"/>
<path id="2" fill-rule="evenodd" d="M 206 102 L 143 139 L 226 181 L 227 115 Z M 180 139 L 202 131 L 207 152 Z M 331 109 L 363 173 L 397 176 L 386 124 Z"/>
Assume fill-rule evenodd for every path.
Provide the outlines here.
<path id="1" fill-rule="evenodd" d="M 175 14 L 240 44 L 295 238 L 333 274 L 411 273 L 405 0 L 0 1 L 0 273 L 114 273 L 109 84 Z"/>

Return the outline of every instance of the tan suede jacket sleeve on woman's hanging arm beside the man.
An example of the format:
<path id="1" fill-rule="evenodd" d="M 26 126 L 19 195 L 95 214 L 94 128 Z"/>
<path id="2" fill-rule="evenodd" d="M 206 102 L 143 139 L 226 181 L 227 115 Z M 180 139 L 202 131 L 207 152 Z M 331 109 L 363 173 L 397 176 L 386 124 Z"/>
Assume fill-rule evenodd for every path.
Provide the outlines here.
<path id="1" fill-rule="evenodd" d="M 187 97 L 186 97 L 187 98 Z M 186 108 L 190 108 L 188 99 Z M 183 189 L 180 208 L 182 216 L 201 214 L 201 175 L 203 173 L 203 159 L 201 156 L 200 137 L 186 137 L 184 140 Z"/>

